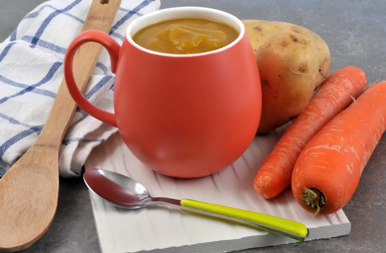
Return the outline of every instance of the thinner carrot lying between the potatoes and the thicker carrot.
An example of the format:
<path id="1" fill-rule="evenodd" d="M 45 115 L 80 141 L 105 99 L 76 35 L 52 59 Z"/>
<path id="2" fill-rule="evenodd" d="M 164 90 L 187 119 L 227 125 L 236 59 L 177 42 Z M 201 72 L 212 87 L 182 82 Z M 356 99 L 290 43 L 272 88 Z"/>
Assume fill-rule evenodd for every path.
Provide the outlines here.
<path id="1" fill-rule="evenodd" d="M 332 73 L 276 143 L 254 178 L 254 188 L 264 198 L 272 198 L 291 184 L 291 174 L 301 150 L 324 125 L 367 86 L 366 74 L 357 67 Z"/>

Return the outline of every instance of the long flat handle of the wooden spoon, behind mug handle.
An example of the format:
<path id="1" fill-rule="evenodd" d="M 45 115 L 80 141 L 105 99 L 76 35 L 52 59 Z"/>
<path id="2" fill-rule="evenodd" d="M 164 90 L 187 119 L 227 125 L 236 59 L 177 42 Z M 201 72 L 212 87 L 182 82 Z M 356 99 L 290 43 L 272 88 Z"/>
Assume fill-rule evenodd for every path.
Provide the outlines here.
<path id="1" fill-rule="evenodd" d="M 82 32 L 95 29 L 108 33 L 120 3 L 121 0 L 93 0 Z M 75 54 L 73 61 L 73 66 L 76 66 L 74 67 L 74 78 L 82 93 L 86 89 L 102 49 L 102 45 L 89 42 L 82 45 Z M 73 119 L 76 107 L 77 105 L 71 98 L 63 78 L 46 124 L 34 146 L 59 149 Z"/>

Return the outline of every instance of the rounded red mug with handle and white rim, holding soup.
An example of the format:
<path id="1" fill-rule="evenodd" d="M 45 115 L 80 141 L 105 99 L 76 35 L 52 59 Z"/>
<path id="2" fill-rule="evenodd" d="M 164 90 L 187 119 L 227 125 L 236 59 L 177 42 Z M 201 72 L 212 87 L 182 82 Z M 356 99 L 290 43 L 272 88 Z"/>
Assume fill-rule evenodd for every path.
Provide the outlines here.
<path id="1" fill-rule="evenodd" d="M 198 17 L 229 24 L 239 37 L 200 54 L 154 52 L 132 40 L 148 25 Z M 110 55 L 115 113 L 92 105 L 75 83 L 74 54 L 86 42 L 102 44 Z M 64 78 L 80 108 L 117 127 L 144 165 L 172 177 L 203 177 L 229 166 L 249 147 L 260 122 L 261 84 L 251 43 L 242 22 L 220 10 L 176 7 L 151 12 L 127 27 L 122 46 L 101 31 L 86 30 L 68 46 Z"/>

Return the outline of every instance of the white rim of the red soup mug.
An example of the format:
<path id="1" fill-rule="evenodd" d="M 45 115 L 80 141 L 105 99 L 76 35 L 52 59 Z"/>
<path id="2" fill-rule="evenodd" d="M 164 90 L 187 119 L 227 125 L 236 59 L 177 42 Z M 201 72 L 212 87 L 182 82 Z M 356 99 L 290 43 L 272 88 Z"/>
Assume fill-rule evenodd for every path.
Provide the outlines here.
<path id="1" fill-rule="evenodd" d="M 203 53 L 198 53 L 198 54 L 166 54 L 166 53 L 151 51 L 149 49 L 146 49 L 144 47 L 139 46 L 132 39 L 132 35 L 135 34 L 135 32 L 137 32 L 138 30 L 141 30 L 142 28 L 147 27 L 148 25 L 162 22 L 162 21 L 168 20 L 168 19 L 167 18 L 159 19 L 156 22 L 150 22 L 149 24 L 139 26 L 139 28 L 136 28 L 135 31 L 133 32 L 133 29 L 135 27 L 138 27 L 138 25 L 141 24 L 141 22 L 146 23 L 145 21 L 148 19 L 157 19 L 157 16 L 168 17 L 168 15 L 170 15 L 170 14 L 175 14 L 175 13 L 179 13 L 179 12 L 181 13 L 180 18 L 184 18 L 183 13 L 187 12 L 187 11 L 188 12 L 193 11 L 193 12 L 198 12 L 198 13 L 201 12 L 201 13 L 205 13 L 205 14 L 209 14 L 209 15 L 213 14 L 213 16 L 215 16 L 215 15 L 221 16 L 224 19 L 229 20 L 229 22 L 225 21 L 224 22 L 225 24 L 228 24 L 228 25 L 231 25 L 229 23 L 236 24 L 236 26 L 235 25 L 232 25 L 232 26 L 239 31 L 239 36 L 237 37 L 237 39 L 235 39 L 234 41 L 232 41 L 230 44 L 228 44 L 225 47 L 221 47 L 221 48 L 213 50 L 213 51 L 208 51 L 208 52 L 203 52 Z M 199 18 L 199 16 L 197 16 L 197 18 Z M 150 12 L 150 13 L 145 14 L 145 15 L 135 19 L 133 22 L 130 23 L 130 25 L 126 29 L 124 39 L 127 40 L 132 46 L 136 47 L 137 49 L 139 49 L 141 51 L 147 52 L 149 54 L 154 54 L 154 55 L 159 55 L 159 56 L 169 56 L 169 57 L 196 57 L 196 56 L 205 56 L 205 55 L 209 55 L 209 54 L 216 54 L 218 52 L 225 51 L 225 50 L 235 46 L 237 43 L 239 43 L 239 41 L 242 39 L 242 37 L 244 37 L 244 34 L 245 34 L 244 24 L 241 22 L 240 19 L 238 19 L 234 15 L 232 15 L 228 12 L 224 12 L 222 10 L 217 10 L 217 9 L 213 9 L 213 8 L 191 7 L 190 6 L 190 7 L 166 8 L 166 9 L 156 10 L 154 12 Z"/>

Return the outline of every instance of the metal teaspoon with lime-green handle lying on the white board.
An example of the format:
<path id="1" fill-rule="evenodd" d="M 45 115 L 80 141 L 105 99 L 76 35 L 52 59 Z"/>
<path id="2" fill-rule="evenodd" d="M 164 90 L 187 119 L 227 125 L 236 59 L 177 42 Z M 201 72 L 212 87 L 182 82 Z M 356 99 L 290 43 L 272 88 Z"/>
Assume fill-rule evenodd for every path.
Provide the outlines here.
<path id="1" fill-rule="evenodd" d="M 309 231 L 302 223 L 268 214 L 191 199 L 179 200 L 168 197 L 152 197 L 142 184 L 117 172 L 90 169 L 86 170 L 83 179 L 91 192 L 117 207 L 138 209 L 152 204 L 163 204 L 178 207 L 183 211 L 234 221 L 271 233 L 288 236 L 298 241 L 304 241 L 308 238 Z"/>

